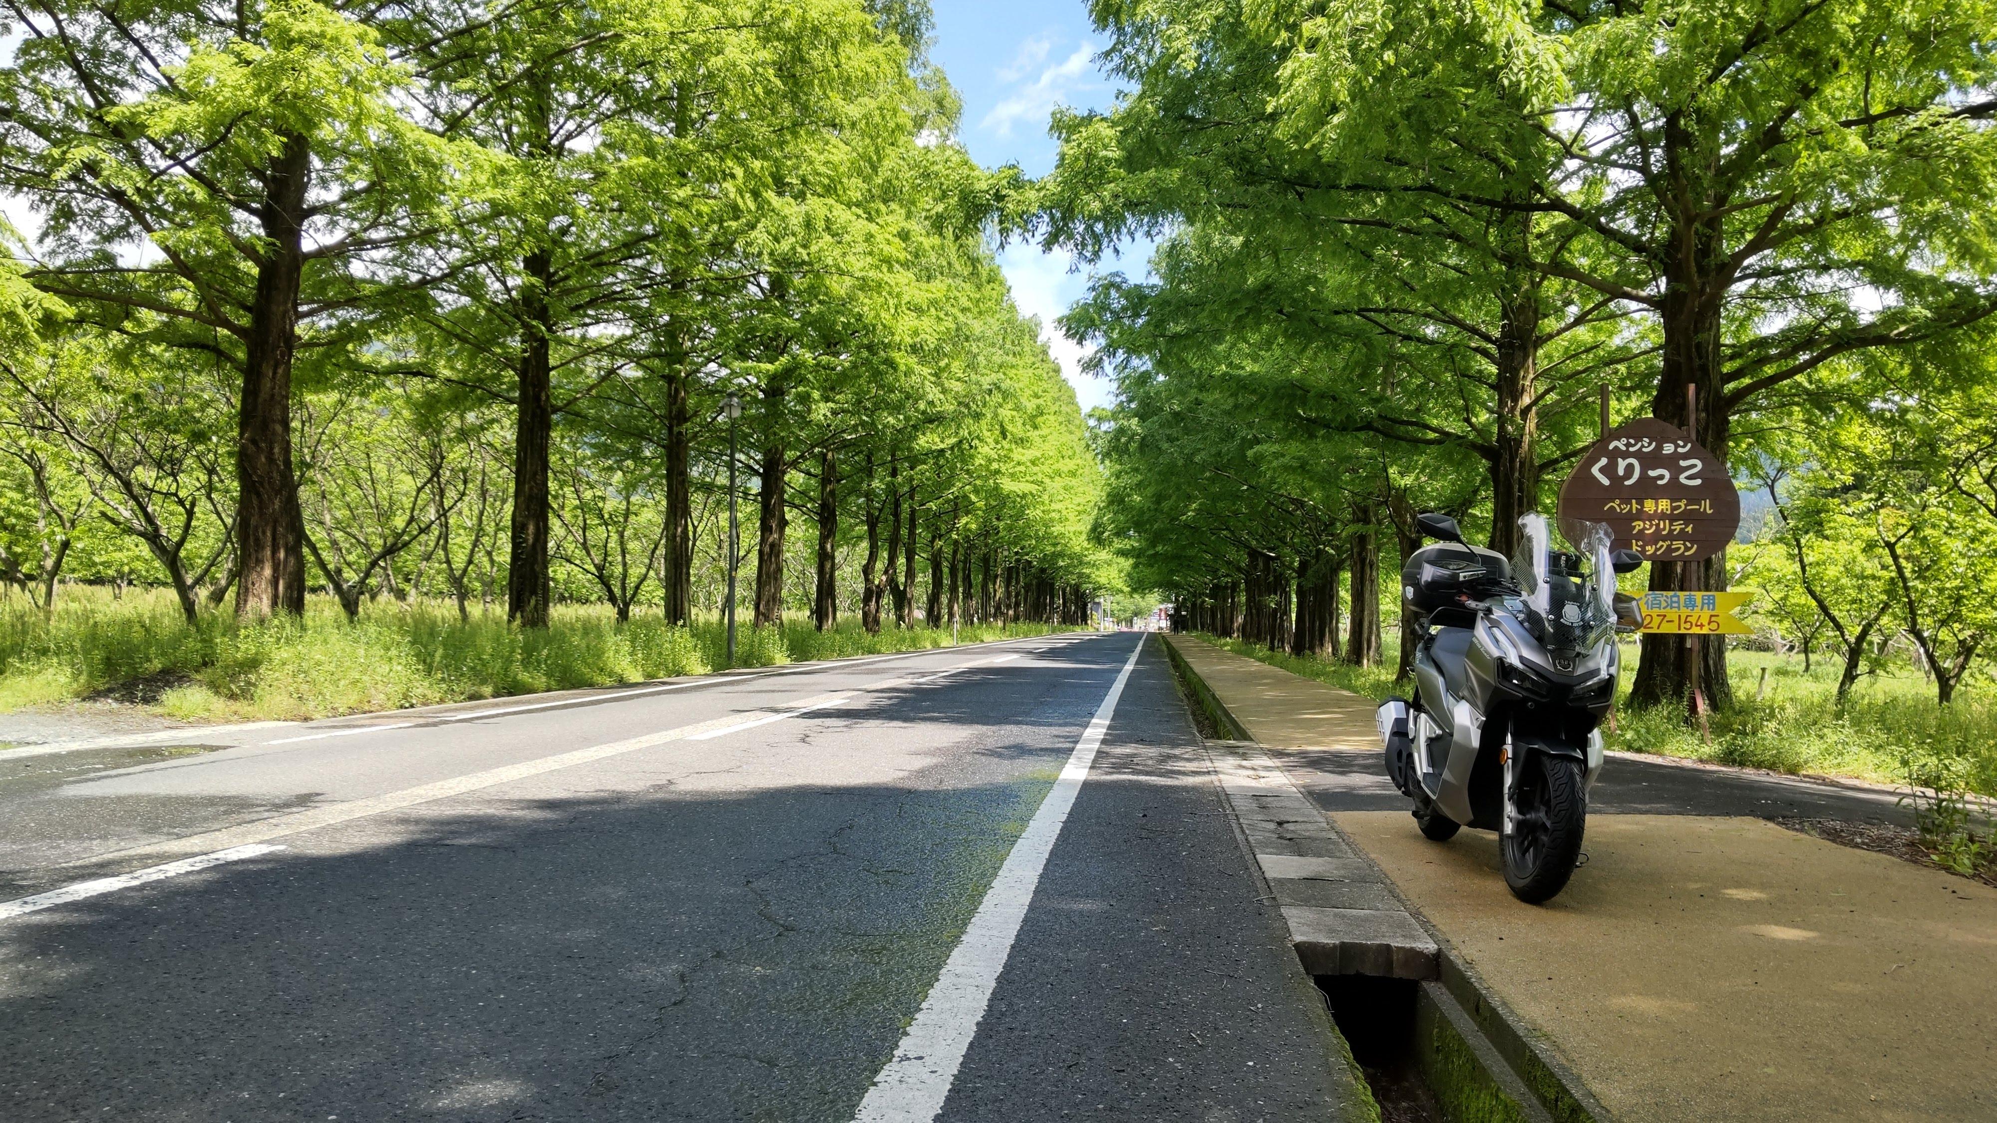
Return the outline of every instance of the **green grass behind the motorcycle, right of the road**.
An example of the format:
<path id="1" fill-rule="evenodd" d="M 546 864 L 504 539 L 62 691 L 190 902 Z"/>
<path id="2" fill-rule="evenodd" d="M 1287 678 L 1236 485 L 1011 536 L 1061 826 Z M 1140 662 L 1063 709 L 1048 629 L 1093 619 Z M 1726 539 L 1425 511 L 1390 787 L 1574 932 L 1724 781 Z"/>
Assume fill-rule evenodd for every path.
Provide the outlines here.
<path id="1" fill-rule="evenodd" d="M 1394 685 L 1396 649 L 1390 641 L 1384 667 L 1296 657 L 1238 639 L 1222 647 L 1274 667 L 1382 699 L 1406 693 Z M 1979 795 L 1997 795 L 1997 689 L 1989 675 L 1965 683 L 1949 705 L 1937 705 L 1933 685 L 1913 667 L 1867 675 L 1837 705 L 1837 671 L 1817 661 L 1803 673 L 1803 659 L 1761 651 L 1731 651 L 1733 709 L 1713 713 L 1711 741 L 1687 725 L 1683 713 L 1632 709 L 1630 681 L 1636 643 L 1624 645 L 1624 699 L 1616 707 L 1612 749 L 1664 753 L 1715 763 L 1765 767 L 1789 773 L 1843 775 L 1879 783 L 1905 783 L 1909 775 L 1947 775 Z M 1761 689 L 1761 669 L 1767 687 Z M 1757 689 L 1761 695 L 1757 697 Z"/>

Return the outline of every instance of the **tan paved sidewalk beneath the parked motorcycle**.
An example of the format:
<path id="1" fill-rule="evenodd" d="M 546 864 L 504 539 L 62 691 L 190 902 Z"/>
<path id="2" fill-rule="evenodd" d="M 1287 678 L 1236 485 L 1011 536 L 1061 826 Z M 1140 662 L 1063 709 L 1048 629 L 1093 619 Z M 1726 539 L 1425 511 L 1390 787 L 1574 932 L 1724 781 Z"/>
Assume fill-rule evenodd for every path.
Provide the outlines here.
<path id="1" fill-rule="evenodd" d="M 1588 865 L 1532 907 L 1496 835 L 1420 837 L 1368 699 L 1172 643 L 1614 1117 L 1997 1119 L 1997 891 L 1761 821 L 1889 799 L 1612 759 Z"/>

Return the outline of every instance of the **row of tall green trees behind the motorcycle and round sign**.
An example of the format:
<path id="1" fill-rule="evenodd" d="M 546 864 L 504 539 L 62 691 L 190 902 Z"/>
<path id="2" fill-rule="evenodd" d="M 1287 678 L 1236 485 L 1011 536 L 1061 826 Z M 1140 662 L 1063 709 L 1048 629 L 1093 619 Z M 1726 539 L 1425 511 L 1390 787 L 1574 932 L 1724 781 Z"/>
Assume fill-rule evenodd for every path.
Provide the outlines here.
<path id="1" fill-rule="evenodd" d="M 1961 496 L 1949 482 L 1973 474 L 1951 466 L 1987 456 L 1943 424 L 1997 386 L 1985 6 L 1092 12 L 1132 92 L 1056 118 L 1060 164 L 1014 222 L 1084 260 L 1162 238 L 1154 276 L 1104 278 L 1068 326 L 1122 390 L 1106 528 L 1188 619 L 1376 659 L 1380 569 L 1418 544 L 1412 516 L 1456 514 L 1510 552 L 1596 438 L 1602 386 L 1618 420 L 1695 422 L 1741 478 L 1807 468 L 1797 500 L 1859 486 L 1843 444 L 1805 450 L 1831 418 L 1935 450 L 1933 490 L 1883 498 L 1899 514 L 1881 526 L 1939 526 L 1901 500 Z M 1723 589 L 1737 563 L 1648 579 Z M 1727 705 L 1723 649 L 1703 651 Z M 1646 635 L 1636 699 L 1683 699 L 1689 657 Z"/>

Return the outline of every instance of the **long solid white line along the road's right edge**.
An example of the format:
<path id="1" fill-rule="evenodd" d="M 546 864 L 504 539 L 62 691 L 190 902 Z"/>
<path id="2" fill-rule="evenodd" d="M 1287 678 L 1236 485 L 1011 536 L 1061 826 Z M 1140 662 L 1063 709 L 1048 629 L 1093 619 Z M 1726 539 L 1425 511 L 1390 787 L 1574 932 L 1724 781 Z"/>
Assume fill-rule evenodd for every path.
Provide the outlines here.
<path id="1" fill-rule="evenodd" d="M 943 1111 L 943 1101 L 957 1081 L 957 1067 L 965 1061 L 965 1049 L 971 1047 L 985 1007 L 991 1003 L 998 971 L 1012 955 L 1012 939 L 1018 935 L 1020 921 L 1026 919 L 1026 905 L 1032 903 L 1046 855 L 1052 853 L 1054 839 L 1060 837 L 1060 825 L 1068 821 L 1074 795 L 1088 779 L 1088 765 L 1096 759 L 1102 733 L 1108 731 L 1110 715 L 1116 713 L 1116 699 L 1122 697 L 1122 687 L 1130 681 L 1130 667 L 1136 665 L 1142 649 L 1144 639 L 1140 637 L 1130 659 L 1124 661 L 1124 669 L 1116 675 L 1116 683 L 1110 685 L 1108 697 L 1102 699 L 1088 729 L 1082 731 L 1082 739 L 1074 743 L 1074 753 L 1060 769 L 1054 789 L 1040 801 L 1040 809 L 1026 823 L 1026 833 L 1012 843 L 1012 853 L 1006 855 L 998 877 L 985 891 L 985 901 L 971 917 L 971 927 L 965 929 L 965 937 L 951 951 L 943 973 L 937 975 L 937 985 L 923 999 L 923 1009 L 903 1033 L 895 1059 L 867 1089 L 867 1097 L 853 1117 L 855 1123 L 931 1123 Z"/>

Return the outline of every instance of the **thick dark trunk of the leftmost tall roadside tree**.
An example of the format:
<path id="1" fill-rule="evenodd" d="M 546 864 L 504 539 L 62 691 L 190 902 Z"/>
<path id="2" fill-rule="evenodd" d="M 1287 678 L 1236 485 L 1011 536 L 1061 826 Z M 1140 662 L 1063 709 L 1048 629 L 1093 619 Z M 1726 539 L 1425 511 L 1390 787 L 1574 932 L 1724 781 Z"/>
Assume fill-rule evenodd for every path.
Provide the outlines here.
<path id="1" fill-rule="evenodd" d="M 306 613 L 306 518 L 292 474 L 292 356 L 306 268 L 306 192 L 312 146 L 284 134 L 266 170 L 258 262 L 236 416 L 236 617 Z M 186 597 L 184 597 L 186 599 Z"/>

